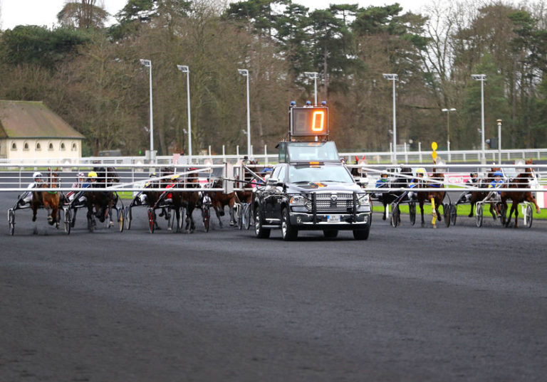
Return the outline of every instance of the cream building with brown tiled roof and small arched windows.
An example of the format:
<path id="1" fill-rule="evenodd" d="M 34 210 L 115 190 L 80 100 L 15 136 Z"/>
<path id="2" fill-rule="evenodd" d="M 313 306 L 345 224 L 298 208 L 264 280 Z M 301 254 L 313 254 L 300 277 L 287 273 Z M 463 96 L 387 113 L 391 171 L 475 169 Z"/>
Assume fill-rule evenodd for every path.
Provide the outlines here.
<path id="1" fill-rule="evenodd" d="M 43 102 L 0 100 L 0 159 L 79 159 L 83 139 Z"/>

